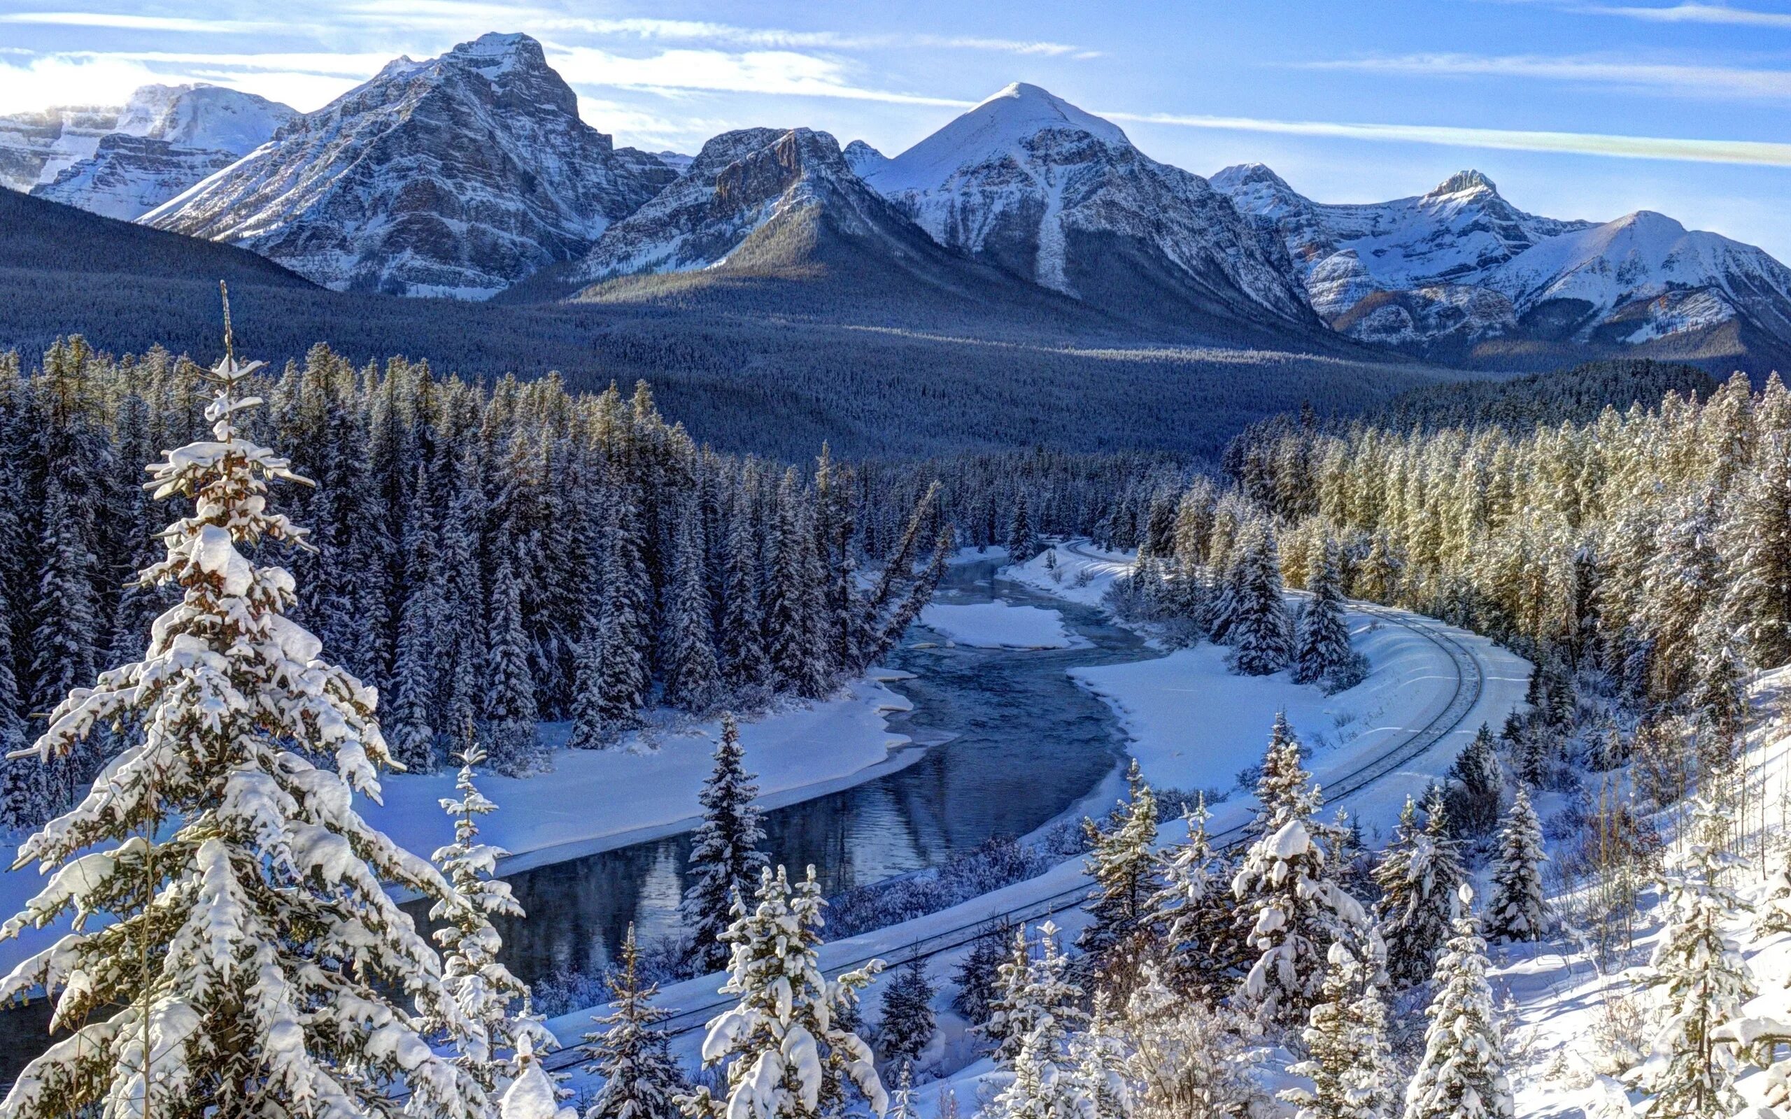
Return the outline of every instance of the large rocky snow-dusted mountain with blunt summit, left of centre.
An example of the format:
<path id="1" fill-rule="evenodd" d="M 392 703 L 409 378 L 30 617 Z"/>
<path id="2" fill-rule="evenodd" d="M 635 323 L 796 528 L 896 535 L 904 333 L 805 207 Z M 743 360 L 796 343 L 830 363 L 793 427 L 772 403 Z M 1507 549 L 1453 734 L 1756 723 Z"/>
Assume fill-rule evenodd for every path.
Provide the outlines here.
<path id="1" fill-rule="evenodd" d="M 389 63 L 141 220 L 338 290 L 485 299 L 675 179 L 578 120 L 536 39 L 487 34 Z"/>

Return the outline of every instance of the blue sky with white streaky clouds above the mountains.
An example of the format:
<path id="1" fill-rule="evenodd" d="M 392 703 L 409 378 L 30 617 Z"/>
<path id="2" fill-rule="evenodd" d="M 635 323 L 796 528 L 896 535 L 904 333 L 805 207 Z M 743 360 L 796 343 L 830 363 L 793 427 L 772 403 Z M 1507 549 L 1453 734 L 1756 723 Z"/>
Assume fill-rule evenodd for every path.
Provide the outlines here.
<path id="1" fill-rule="evenodd" d="M 485 30 L 541 39 L 618 143 L 802 124 L 894 154 L 1030 81 L 1198 174 L 1379 201 L 1476 167 L 1537 213 L 1658 209 L 1791 260 L 1786 0 L 0 0 L 0 113 L 147 81 L 315 109 Z"/>

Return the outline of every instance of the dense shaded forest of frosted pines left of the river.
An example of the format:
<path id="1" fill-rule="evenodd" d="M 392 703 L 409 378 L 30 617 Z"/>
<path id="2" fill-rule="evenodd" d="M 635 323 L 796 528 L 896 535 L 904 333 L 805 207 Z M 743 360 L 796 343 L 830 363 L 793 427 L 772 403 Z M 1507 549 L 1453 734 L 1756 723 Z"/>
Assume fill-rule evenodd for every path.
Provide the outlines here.
<path id="1" fill-rule="evenodd" d="M 853 471 L 799 471 L 697 446 L 645 383 L 571 394 L 493 385 L 326 347 L 261 376 L 253 437 L 292 448 L 312 487 L 281 503 L 310 548 L 281 562 L 294 618 L 380 689 L 403 765 L 432 770 L 475 723 L 491 765 L 543 765 L 536 727 L 571 720 L 602 747 L 666 704 L 754 707 L 826 695 L 899 636 L 937 582 L 937 514 L 865 532 Z M 172 519 L 131 474 L 204 439 L 201 371 L 165 351 L 109 358 L 81 338 L 38 369 L 0 358 L 0 745 L 29 745 L 106 664 L 141 655 L 168 605 L 127 585 Z M 270 544 L 272 546 L 272 544 Z M 928 553 L 933 562 L 928 564 Z M 919 568 L 919 571 L 917 571 Z M 874 575 L 874 578 L 870 577 Z M 91 743 L 0 772 L 0 824 L 70 804 L 106 756 Z"/>

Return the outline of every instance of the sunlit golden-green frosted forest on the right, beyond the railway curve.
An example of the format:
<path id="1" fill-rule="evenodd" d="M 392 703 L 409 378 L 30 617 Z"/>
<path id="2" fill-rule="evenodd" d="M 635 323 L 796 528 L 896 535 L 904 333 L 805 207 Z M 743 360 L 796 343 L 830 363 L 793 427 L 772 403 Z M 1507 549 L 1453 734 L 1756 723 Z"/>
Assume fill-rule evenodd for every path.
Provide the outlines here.
<path id="1" fill-rule="evenodd" d="M 1791 661 L 1777 376 L 1530 433 L 1259 428 L 1227 460 L 1284 557 L 1336 539 L 1352 594 L 1590 666 L 1639 707 L 1730 709 L 1743 668 Z"/>

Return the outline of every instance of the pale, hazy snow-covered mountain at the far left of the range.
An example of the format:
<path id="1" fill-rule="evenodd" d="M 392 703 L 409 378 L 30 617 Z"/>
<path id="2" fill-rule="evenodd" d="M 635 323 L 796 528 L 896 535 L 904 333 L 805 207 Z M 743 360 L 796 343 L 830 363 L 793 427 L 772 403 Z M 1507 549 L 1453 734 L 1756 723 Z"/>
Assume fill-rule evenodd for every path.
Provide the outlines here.
<path id="1" fill-rule="evenodd" d="M 131 220 L 267 143 L 297 115 L 222 86 L 143 86 L 122 109 L 64 127 L 61 149 L 79 158 L 45 159 L 38 181 L 16 188 Z M 100 136 L 86 134 L 106 122 Z"/>

